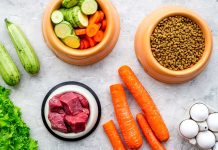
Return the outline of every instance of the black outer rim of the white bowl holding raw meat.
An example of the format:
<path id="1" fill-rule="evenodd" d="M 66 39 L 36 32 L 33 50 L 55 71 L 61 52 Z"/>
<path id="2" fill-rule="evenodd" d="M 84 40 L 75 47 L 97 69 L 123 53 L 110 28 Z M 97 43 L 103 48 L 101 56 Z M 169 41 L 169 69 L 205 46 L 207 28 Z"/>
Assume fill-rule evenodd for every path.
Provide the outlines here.
<path id="1" fill-rule="evenodd" d="M 92 96 L 94 97 L 95 101 L 96 101 L 96 104 L 97 104 L 97 107 L 98 107 L 98 116 L 97 116 L 97 119 L 96 119 L 96 122 L 95 122 L 95 125 L 93 126 L 93 128 L 88 132 L 86 133 L 85 135 L 81 136 L 81 137 L 77 137 L 77 138 L 65 138 L 65 137 L 62 137 L 58 134 L 56 134 L 48 125 L 47 121 L 46 121 L 46 117 L 45 117 L 45 106 L 46 106 L 46 103 L 48 101 L 48 98 L 49 96 L 55 91 L 57 90 L 58 88 L 62 87 L 62 86 L 66 86 L 66 85 L 77 85 L 77 86 L 81 86 L 83 87 L 84 89 L 88 90 L 90 92 L 90 94 L 92 94 Z M 56 86 L 54 86 L 52 89 L 49 90 L 49 92 L 46 94 L 46 96 L 44 97 L 43 99 L 43 102 L 42 102 L 42 106 L 41 106 L 41 117 L 42 117 L 42 121 L 45 125 L 45 127 L 47 128 L 47 130 L 56 138 L 60 139 L 60 140 L 63 140 L 63 141 L 79 141 L 79 140 L 82 140 L 86 137 L 88 137 L 89 135 L 91 135 L 95 129 L 98 127 L 99 123 L 100 123 L 100 119 L 101 119 L 101 103 L 99 101 L 99 98 L 98 96 L 96 95 L 96 93 L 90 88 L 88 87 L 87 85 L 83 84 L 83 83 L 80 83 L 80 82 L 76 82 L 76 81 L 67 81 L 67 82 L 62 82 Z"/>

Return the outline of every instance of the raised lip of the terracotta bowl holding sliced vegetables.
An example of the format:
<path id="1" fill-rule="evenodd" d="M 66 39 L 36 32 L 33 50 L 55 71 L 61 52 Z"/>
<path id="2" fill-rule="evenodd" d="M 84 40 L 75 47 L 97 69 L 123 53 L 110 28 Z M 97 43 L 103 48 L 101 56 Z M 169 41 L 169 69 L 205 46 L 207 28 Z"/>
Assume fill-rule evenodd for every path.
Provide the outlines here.
<path id="1" fill-rule="evenodd" d="M 113 16 L 112 16 L 112 12 L 110 11 L 110 5 L 108 4 L 109 1 L 108 0 L 96 0 L 98 2 L 99 7 L 103 10 L 103 12 L 105 13 L 106 16 L 106 20 L 107 20 L 107 28 L 105 30 L 105 34 L 104 34 L 104 38 L 103 40 L 98 43 L 96 46 L 92 47 L 92 48 L 88 48 L 85 50 L 81 50 L 81 49 L 73 49 L 70 48 L 68 46 L 66 46 L 56 35 L 53 29 L 53 25 L 50 19 L 51 13 L 56 9 L 59 8 L 61 5 L 62 0 L 52 0 L 49 5 L 47 6 L 44 16 L 43 16 L 43 35 L 44 37 L 50 37 L 50 40 L 53 40 L 54 45 L 57 47 L 57 51 L 64 53 L 65 55 L 70 55 L 73 57 L 87 57 L 90 56 L 92 54 L 96 54 L 99 51 L 103 50 L 105 45 L 107 45 L 110 39 L 110 36 L 113 34 L 113 32 L 111 32 L 113 30 L 113 27 L 110 26 L 109 24 L 111 24 L 113 22 Z M 46 23 L 45 23 L 46 22 Z M 48 35 L 49 31 L 45 31 L 46 27 L 45 26 L 49 26 L 47 28 L 47 30 L 51 30 L 51 34 Z M 46 38 L 45 38 L 46 39 Z M 47 38 L 47 42 L 51 45 L 51 47 L 54 47 L 53 44 L 51 44 L 49 38 Z"/>

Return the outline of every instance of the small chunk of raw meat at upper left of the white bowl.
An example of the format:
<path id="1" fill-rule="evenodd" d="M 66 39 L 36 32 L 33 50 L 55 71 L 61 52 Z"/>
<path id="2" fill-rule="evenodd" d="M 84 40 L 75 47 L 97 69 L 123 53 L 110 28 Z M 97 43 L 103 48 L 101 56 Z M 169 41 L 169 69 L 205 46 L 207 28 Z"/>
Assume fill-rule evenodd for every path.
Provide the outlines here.
<path id="1" fill-rule="evenodd" d="M 56 112 L 59 114 L 64 113 L 63 106 L 56 96 L 49 100 L 49 109 L 51 112 Z"/>

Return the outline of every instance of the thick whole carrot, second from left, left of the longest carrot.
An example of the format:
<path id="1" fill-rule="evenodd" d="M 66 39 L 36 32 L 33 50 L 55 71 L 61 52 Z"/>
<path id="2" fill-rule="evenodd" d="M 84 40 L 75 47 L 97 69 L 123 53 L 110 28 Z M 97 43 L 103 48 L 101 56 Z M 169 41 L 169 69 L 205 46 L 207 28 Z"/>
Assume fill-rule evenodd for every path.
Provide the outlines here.
<path id="1" fill-rule="evenodd" d="M 110 92 L 124 141 L 130 149 L 138 149 L 142 145 L 142 137 L 128 106 L 123 86 L 121 84 L 112 85 Z"/>

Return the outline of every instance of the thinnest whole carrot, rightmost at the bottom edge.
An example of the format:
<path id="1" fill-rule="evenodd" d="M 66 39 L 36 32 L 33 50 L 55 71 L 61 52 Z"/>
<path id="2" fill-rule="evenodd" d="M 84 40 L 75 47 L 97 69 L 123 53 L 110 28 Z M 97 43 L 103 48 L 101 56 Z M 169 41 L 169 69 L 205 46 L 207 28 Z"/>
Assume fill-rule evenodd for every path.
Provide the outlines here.
<path id="1" fill-rule="evenodd" d="M 164 146 L 158 141 L 158 139 L 153 134 L 151 128 L 149 127 L 145 117 L 142 113 L 136 115 L 136 120 L 142 129 L 142 132 L 151 146 L 152 150 L 165 150 Z"/>

